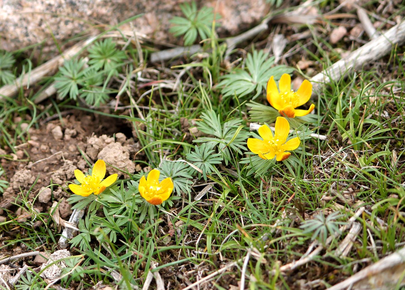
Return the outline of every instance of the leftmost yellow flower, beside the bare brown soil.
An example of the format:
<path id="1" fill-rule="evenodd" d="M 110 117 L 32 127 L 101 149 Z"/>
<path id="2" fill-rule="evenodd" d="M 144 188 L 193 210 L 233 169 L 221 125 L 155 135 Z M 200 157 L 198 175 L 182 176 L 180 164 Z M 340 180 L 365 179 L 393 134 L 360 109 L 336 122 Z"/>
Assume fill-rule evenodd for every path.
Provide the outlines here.
<path id="1" fill-rule="evenodd" d="M 76 169 L 75 177 L 81 184 L 69 184 L 69 189 L 74 194 L 81 196 L 89 196 L 92 193 L 100 194 L 118 178 L 118 174 L 113 174 L 101 181 L 104 176 L 105 162 L 100 159 L 94 164 L 92 175 L 85 176 L 79 169 Z"/>

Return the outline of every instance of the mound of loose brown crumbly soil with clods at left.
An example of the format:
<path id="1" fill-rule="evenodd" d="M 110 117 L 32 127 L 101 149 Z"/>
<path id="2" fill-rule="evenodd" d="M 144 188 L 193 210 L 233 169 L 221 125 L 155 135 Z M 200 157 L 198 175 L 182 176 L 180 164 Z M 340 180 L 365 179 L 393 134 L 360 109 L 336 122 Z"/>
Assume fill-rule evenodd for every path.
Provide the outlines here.
<path id="1" fill-rule="evenodd" d="M 34 202 L 37 210 L 48 211 L 53 201 L 60 201 L 63 198 L 59 211 L 62 218 L 67 218 L 72 211 L 66 202 L 66 198 L 71 195 L 66 183 L 75 179 L 75 169 L 79 168 L 86 172 L 89 168 L 80 152 L 90 163 L 104 159 L 106 163 L 119 170 L 134 173 L 135 165 L 131 160 L 141 146 L 134 143 L 133 138 L 127 139 L 122 132 L 117 132 L 115 136 L 107 134 L 96 136 L 94 124 L 103 122 L 108 124 L 104 119 L 98 122 L 97 119 L 93 120 L 88 115 L 78 113 L 61 121 L 43 124 L 38 129 L 30 128 L 30 140 L 19 145 L 25 156 L 11 162 L 1 160 L 2 164 L 6 165 L 10 184 L 0 197 L 0 207 L 12 209 L 15 204 Z M 118 127 L 117 125 L 114 128 Z M 103 131 L 103 125 L 97 129 Z M 4 154 L 11 152 L 5 151 Z M 27 157 L 29 162 L 20 161 Z M 129 177 L 112 166 L 107 165 L 109 174 L 118 173 Z M 1 214 L 4 212 L 1 211 Z M 19 215 L 22 216 L 24 213 L 20 212 Z M 23 218 L 27 215 L 30 216 L 25 213 Z"/>

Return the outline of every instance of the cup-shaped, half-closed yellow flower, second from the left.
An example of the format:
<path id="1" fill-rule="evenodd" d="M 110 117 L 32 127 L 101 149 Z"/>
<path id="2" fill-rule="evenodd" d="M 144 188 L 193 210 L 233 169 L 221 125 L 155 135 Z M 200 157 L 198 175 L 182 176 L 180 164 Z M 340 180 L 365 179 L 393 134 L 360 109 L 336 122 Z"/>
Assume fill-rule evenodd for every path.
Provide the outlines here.
<path id="1" fill-rule="evenodd" d="M 139 181 L 139 193 L 152 205 L 160 205 L 173 191 L 172 179 L 167 177 L 159 182 L 159 175 L 160 171 L 153 169 L 149 172 L 147 179 L 144 175 Z"/>

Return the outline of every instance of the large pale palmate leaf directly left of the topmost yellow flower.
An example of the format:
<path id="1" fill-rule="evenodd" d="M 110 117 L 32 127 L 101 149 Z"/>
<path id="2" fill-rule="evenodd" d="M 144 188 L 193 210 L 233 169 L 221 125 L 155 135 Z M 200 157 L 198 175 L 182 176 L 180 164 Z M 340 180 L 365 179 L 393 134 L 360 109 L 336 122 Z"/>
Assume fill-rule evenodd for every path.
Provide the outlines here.
<path id="1" fill-rule="evenodd" d="M 236 95 L 238 98 L 249 96 L 254 100 L 263 90 L 271 76 L 276 80 L 280 79 L 283 73 L 291 73 L 292 68 L 284 65 L 274 64 L 274 57 L 267 59 L 268 53 L 263 50 L 253 50 L 247 54 L 246 70 L 236 68 L 231 73 L 224 75 L 218 83 L 224 97 Z M 272 67 L 273 66 L 273 67 Z M 253 97 L 251 95 L 253 94 Z"/>

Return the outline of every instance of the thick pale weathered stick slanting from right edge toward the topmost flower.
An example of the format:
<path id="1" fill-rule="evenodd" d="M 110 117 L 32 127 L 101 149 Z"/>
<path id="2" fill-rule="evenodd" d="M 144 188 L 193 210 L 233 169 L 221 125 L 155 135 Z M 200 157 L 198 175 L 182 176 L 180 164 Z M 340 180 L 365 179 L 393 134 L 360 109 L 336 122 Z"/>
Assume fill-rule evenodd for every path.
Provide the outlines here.
<path id="1" fill-rule="evenodd" d="M 402 21 L 378 38 L 356 49 L 346 58 L 335 62 L 335 64 L 315 75 L 311 79 L 311 82 L 313 82 L 312 95 L 314 96 L 316 92 L 319 92 L 322 83 L 338 81 L 342 76 L 347 75 L 347 73 L 350 73 L 352 70 L 357 70 L 365 64 L 386 55 L 391 51 L 394 45 L 401 45 L 404 41 L 405 21 Z"/>

